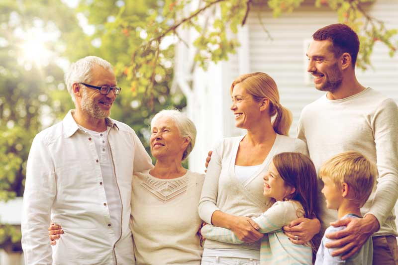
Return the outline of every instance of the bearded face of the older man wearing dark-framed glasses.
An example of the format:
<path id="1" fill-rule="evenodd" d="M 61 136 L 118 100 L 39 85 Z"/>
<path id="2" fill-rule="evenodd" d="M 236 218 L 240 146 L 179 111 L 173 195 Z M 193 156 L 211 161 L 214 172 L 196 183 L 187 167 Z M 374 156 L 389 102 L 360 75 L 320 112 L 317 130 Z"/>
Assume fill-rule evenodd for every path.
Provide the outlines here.
<path id="1" fill-rule="evenodd" d="M 91 74 L 92 82 L 90 82 L 90 85 L 97 87 L 116 86 L 115 75 L 99 65 L 95 65 L 92 68 Z M 84 85 L 80 85 L 80 88 L 81 98 L 77 102 L 80 104 L 83 113 L 96 119 L 103 119 L 110 115 L 110 108 L 116 98 L 116 95 L 113 94 L 113 90 L 109 91 L 107 95 L 103 95 L 100 93 L 99 89 L 88 88 Z"/>

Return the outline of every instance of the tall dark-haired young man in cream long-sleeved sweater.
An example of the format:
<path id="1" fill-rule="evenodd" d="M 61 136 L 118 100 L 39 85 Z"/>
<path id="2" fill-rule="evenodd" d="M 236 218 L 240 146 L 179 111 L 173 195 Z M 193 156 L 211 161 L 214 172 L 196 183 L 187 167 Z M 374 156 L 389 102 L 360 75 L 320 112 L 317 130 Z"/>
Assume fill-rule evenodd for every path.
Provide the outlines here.
<path id="1" fill-rule="evenodd" d="M 313 35 L 307 56 L 315 88 L 325 95 L 304 107 L 298 138 L 306 142 L 318 170 L 330 157 L 358 151 L 377 165 L 378 184 L 361 208 L 364 218 L 345 218 L 334 226 L 342 231 L 326 234 L 339 239 L 326 244 L 338 248 L 333 256 L 345 260 L 372 236 L 374 264 L 398 264 L 394 206 L 398 196 L 398 107 L 393 99 L 359 84 L 355 62 L 359 50 L 357 34 L 347 25 L 332 24 Z M 320 191 L 320 189 L 319 189 Z M 338 219 L 320 200 L 322 230 Z"/>

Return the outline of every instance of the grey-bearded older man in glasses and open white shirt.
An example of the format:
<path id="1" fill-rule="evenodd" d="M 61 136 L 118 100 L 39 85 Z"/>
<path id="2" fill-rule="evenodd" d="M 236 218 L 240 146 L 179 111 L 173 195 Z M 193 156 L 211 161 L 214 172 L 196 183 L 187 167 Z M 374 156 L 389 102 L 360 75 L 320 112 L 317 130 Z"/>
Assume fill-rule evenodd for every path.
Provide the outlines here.
<path id="1" fill-rule="evenodd" d="M 64 120 L 38 133 L 23 198 L 26 264 L 135 264 L 129 229 L 133 172 L 151 169 L 135 132 L 110 119 L 121 88 L 112 66 L 89 56 L 65 75 L 75 102 Z M 53 251 L 50 220 L 66 234 Z"/>

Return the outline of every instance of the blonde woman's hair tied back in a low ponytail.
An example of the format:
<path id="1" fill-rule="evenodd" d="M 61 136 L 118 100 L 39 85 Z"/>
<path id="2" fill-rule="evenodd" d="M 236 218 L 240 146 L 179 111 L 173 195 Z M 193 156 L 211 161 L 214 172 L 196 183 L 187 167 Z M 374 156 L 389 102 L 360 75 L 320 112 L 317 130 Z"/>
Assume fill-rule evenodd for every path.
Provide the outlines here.
<path id="1" fill-rule="evenodd" d="M 272 123 L 274 131 L 288 135 L 292 125 L 292 113 L 279 102 L 279 92 L 275 81 L 261 72 L 241 75 L 232 82 L 231 94 L 233 88 L 239 83 L 244 84 L 246 91 L 253 96 L 255 101 L 261 101 L 264 97 L 270 100 L 270 116 L 277 115 Z"/>

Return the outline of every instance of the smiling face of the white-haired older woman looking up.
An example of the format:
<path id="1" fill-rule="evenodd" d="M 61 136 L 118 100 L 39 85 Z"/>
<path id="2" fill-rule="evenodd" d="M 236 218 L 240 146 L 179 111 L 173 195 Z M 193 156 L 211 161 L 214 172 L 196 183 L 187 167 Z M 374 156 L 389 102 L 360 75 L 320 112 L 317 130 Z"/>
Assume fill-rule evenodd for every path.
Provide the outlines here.
<path id="1" fill-rule="evenodd" d="M 152 123 L 149 144 L 151 145 L 151 154 L 157 160 L 172 157 L 181 161 L 189 139 L 181 136 L 172 118 L 163 116 Z"/>

